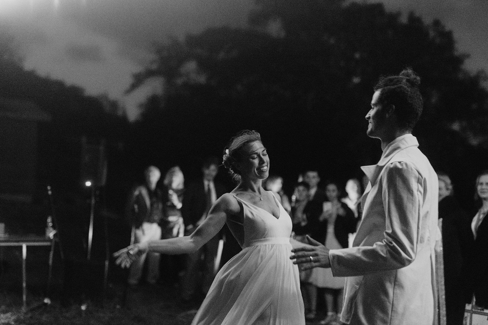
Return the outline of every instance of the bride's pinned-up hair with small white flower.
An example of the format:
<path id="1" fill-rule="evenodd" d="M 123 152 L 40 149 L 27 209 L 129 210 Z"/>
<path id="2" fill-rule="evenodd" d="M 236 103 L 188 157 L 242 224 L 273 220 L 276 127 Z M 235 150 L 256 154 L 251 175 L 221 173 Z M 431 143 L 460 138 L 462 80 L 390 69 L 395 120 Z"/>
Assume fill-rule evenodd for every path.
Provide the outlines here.
<path id="1" fill-rule="evenodd" d="M 261 141 L 261 135 L 256 131 L 243 130 L 238 132 L 224 149 L 223 165 L 227 168 L 232 180 L 236 183 L 241 181 L 241 171 L 237 169 L 237 162 L 243 157 L 240 150 L 245 144 Z"/>

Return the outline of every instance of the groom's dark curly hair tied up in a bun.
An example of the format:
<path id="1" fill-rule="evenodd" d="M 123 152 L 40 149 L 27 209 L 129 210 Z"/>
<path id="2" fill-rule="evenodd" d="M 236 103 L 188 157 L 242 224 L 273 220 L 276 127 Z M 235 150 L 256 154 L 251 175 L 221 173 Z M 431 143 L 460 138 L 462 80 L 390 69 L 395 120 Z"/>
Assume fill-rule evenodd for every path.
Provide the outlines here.
<path id="1" fill-rule="evenodd" d="M 374 90 L 381 90 L 379 102 L 383 106 L 395 106 L 398 122 L 412 130 L 422 115 L 424 101 L 419 90 L 420 77 L 407 68 L 399 75 L 380 77 Z"/>

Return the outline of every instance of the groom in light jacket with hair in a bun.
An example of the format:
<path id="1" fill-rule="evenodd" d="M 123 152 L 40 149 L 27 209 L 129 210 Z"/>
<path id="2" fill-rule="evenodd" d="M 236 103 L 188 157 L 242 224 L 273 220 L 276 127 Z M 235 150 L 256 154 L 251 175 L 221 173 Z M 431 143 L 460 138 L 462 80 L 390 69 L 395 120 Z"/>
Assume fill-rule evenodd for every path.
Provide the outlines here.
<path id="1" fill-rule="evenodd" d="M 350 325 L 432 325 L 437 176 L 411 134 L 422 113 L 420 78 L 410 69 L 380 79 L 366 115 L 383 155 L 369 179 L 353 247 L 293 250 L 301 269 L 346 276 L 341 321 Z"/>

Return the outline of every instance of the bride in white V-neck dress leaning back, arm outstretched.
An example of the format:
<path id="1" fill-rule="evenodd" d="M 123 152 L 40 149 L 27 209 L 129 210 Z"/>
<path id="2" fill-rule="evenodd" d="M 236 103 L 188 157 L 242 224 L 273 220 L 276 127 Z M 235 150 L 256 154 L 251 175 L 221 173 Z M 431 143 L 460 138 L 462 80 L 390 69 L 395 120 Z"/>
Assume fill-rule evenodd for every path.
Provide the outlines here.
<path id="1" fill-rule="evenodd" d="M 215 202 L 193 234 L 131 245 L 114 253 L 116 263 L 129 267 L 147 251 L 195 252 L 226 222 L 243 251 L 219 271 L 192 325 L 305 325 L 298 267 L 289 258 L 292 246 L 305 244 L 290 239 L 290 217 L 261 186 L 269 157 L 260 134 L 245 130 L 233 137 L 224 166 L 239 185 Z"/>

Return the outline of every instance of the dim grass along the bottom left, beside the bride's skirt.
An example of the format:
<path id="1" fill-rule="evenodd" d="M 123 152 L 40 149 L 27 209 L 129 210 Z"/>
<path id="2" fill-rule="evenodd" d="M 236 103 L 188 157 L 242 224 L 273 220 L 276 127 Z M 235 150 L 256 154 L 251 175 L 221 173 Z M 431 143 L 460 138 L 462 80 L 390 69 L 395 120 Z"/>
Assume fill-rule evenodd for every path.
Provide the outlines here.
<path id="1" fill-rule="evenodd" d="M 196 306 L 182 305 L 178 288 L 142 287 L 131 291 L 121 307 L 122 285 L 110 286 L 104 306 L 79 301 L 63 306 L 59 300 L 50 305 L 22 312 L 20 291 L 0 292 L 0 324 L 10 325 L 189 325 Z M 42 295 L 29 294 L 28 306 L 37 306 Z M 85 307 L 85 308 L 84 308 Z M 84 309 L 84 310 L 83 310 Z"/>

